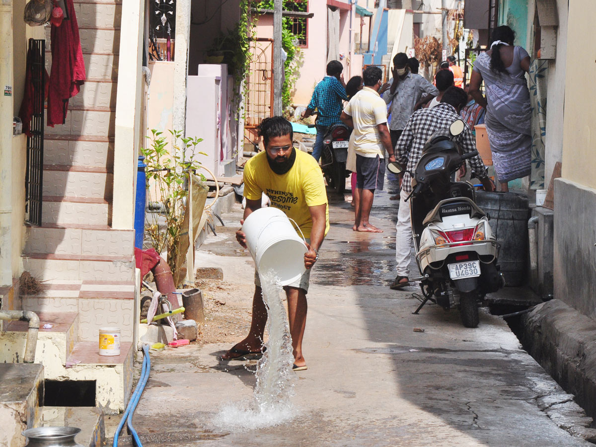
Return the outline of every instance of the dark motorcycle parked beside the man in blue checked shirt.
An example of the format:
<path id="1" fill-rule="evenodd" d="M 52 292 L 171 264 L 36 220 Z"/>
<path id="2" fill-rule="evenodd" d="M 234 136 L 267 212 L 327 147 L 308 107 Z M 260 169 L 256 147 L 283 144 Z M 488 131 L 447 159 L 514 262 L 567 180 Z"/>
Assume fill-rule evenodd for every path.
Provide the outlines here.
<path id="1" fill-rule="evenodd" d="M 309 125 L 313 128 L 315 125 Z M 335 123 L 327 128 L 323 137 L 321 152 L 321 169 L 327 185 L 334 188 L 337 194 L 343 194 L 346 178 L 350 172 L 346 170 L 347 148 L 352 129 L 344 123 Z"/>

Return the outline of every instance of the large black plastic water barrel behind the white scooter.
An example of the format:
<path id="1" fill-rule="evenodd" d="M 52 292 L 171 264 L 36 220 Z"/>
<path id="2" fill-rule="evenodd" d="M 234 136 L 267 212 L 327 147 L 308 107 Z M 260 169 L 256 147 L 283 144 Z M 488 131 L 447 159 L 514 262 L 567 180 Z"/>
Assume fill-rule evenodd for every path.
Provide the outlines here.
<path id="1" fill-rule="evenodd" d="M 476 204 L 491 216 L 489 224 L 501 243 L 498 265 L 505 282 L 510 287 L 523 285 L 527 277 L 527 221 L 530 218 L 527 197 L 476 191 Z"/>

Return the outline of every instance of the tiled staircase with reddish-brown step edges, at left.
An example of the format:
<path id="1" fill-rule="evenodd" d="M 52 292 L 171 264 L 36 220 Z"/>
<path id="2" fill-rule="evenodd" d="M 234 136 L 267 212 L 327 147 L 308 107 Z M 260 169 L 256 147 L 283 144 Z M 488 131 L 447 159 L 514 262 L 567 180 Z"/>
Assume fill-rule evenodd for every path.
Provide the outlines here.
<path id="1" fill-rule="evenodd" d="M 40 331 L 36 352 L 46 380 L 73 382 L 60 384 L 60 390 L 94 381 L 95 405 L 113 414 L 125 408 L 131 392 L 138 322 L 134 231 L 110 228 L 122 2 L 76 0 L 75 12 L 86 81 L 69 101 L 65 123 L 45 128 L 42 226 L 26 226 L 22 253 L 24 269 L 43 283 L 38 294 L 21 295 L 20 305 L 52 327 Z M 48 27 L 46 67 L 51 72 L 49 32 Z M 13 346 L 0 353 L 0 361 L 3 355 L 5 361 L 19 361 L 16 352 L 24 349 L 26 327 L 9 326 L 4 344 Z M 120 356 L 98 355 L 101 327 L 120 328 Z M 58 425 L 79 415 L 77 409 L 48 412 L 46 422 Z M 103 424 L 97 414 L 89 417 L 80 424 Z M 85 428 L 77 424 L 72 425 Z M 95 444 L 83 445 L 101 445 L 105 435 L 97 437 L 94 430 L 89 439 Z"/>

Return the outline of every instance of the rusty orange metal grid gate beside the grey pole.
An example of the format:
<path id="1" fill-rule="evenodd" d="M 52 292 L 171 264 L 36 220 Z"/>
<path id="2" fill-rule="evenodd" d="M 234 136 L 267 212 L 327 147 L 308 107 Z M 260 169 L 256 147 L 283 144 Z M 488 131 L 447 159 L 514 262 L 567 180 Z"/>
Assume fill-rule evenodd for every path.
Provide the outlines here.
<path id="1" fill-rule="evenodd" d="M 263 118 L 273 116 L 273 39 L 252 39 L 250 51 L 244 127 L 254 129 Z"/>

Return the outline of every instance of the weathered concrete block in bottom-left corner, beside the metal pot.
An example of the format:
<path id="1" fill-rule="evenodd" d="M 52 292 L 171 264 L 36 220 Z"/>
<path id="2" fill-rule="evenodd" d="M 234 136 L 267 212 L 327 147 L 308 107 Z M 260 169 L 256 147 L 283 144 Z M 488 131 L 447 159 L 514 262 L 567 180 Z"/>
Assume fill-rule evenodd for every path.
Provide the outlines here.
<path id="1" fill-rule="evenodd" d="M 23 447 L 21 432 L 41 424 L 44 367 L 0 363 L 0 446 Z"/>

